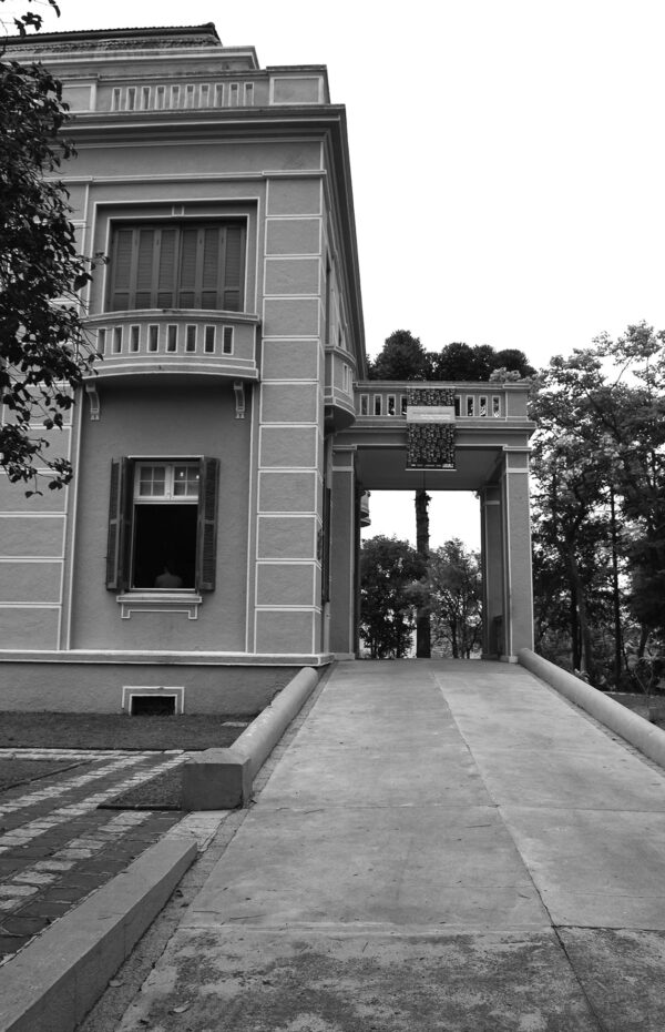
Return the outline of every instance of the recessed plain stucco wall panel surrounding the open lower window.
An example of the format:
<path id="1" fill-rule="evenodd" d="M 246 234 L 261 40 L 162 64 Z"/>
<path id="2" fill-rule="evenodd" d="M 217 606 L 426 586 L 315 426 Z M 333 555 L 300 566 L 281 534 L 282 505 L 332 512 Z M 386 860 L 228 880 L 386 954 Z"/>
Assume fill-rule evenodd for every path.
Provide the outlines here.
<path id="1" fill-rule="evenodd" d="M 231 384 L 100 385 L 101 418 L 83 418 L 76 457 L 71 648 L 245 649 L 250 408 L 235 418 Z M 250 402 L 248 403 L 250 406 Z M 209 456 L 221 462 L 217 576 L 197 619 L 133 613 L 122 619 L 105 588 L 112 459 Z"/>

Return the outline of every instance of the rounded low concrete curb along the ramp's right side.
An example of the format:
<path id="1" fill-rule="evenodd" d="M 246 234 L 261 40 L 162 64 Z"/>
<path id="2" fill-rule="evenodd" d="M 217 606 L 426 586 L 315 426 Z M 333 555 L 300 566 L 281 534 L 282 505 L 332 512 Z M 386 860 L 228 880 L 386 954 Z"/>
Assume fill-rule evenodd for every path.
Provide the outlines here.
<path id="1" fill-rule="evenodd" d="M 665 731 L 661 728 L 626 709 L 621 702 L 608 699 L 604 692 L 592 688 L 573 674 L 562 670 L 549 659 L 536 656 L 531 649 L 521 649 L 519 660 L 523 667 L 546 681 L 571 702 L 575 702 L 601 724 L 616 731 L 632 746 L 648 756 L 649 760 L 665 767 Z"/>

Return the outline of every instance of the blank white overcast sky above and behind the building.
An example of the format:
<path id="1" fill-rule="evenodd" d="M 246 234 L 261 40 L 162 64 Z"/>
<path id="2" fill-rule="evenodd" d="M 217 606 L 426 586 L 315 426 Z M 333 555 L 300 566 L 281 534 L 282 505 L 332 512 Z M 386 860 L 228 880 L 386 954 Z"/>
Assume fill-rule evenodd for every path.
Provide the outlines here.
<path id="1" fill-rule="evenodd" d="M 213 21 L 264 67 L 327 64 L 369 354 L 408 328 L 542 366 L 604 330 L 665 327 L 664 0 L 59 2 L 44 29 Z M 403 527 L 392 500 L 371 533 L 409 534 L 403 500 Z M 469 510 L 440 502 L 434 544 L 473 544 Z"/>

